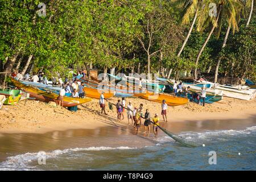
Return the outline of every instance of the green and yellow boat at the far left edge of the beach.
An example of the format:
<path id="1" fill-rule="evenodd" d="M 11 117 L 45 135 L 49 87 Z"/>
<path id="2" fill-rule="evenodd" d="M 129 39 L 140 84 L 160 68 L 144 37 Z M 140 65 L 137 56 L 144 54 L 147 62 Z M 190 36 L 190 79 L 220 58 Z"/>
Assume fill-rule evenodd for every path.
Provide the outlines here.
<path id="1" fill-rule="evenodd" d="M 17 104 L 20 100 L 20 90 L 10 90 L 10 89 L 0 89 L 0 95 L 6 97 L 6 100 L 3 104 L 14 105 Z"/>

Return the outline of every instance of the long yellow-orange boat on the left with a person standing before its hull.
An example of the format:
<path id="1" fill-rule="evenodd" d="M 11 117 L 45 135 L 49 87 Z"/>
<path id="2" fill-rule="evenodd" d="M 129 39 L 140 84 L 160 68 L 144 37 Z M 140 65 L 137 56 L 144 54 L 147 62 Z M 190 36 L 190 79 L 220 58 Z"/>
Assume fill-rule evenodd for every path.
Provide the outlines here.
<path id="1" fill-rule="evenodd" d="M 43 90 L 40 90 L 34 86 L 28 86 L 24 85 L 21 82 L 15 80 L 14 78 L 11 78 L 11 81 L 13 84 L 18 87 L 19 89 L 23 90 L 24 92 L 27 92 L 30 94 L 30 97 L 36 98 L 36 100 L 43 101 L 43 102 L 55 102 L 57 97 L 59 97 L 58 94 L 52 93 L 52 92 L 46 92 Z M 72 97 L 66 97 L 63 98 L 63 106 L 64 107 L 73 107 L 80 104 L 84 104 L 86 102 L 91 101 L 91 98 L 72 98 Z"/>

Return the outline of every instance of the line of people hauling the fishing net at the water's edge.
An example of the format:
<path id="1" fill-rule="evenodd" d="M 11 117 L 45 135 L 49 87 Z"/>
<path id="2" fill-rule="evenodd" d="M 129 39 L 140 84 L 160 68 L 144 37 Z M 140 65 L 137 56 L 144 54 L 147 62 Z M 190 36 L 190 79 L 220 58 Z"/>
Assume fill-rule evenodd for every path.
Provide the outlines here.
<path id="1" fill-rule="evenodd" d="M 106 114 L 106 110 L 105 110 L 105 97 L 104 97 L 104 92 L 101 93 L 100 96 L 100 107 L 101 107 L 101 114 Z M 139 132 L 139 130 L 141 129 L 142 126 L 142 119 L 144 119 L 144 133 L 150 133 L 150 125 L 151 123 L 153 123 L 153 131 L 154 131 L 154 135 L 157 138 L 158 137 L 158 125 L 159 125 L 159 116 L 158 113 L 154 114 L 154 117 L 151 118 L 151 114 L 150 111 L 148 109 L 146 109 L 144 115 L 143 115 L 143 104 L 140 104 L 139 107 L 134 107 L 131 103 L 131 101 L 129 101 L 129 104 L 126 106 L 126 100 L 125 98 L 122 98 L 122 100 L 118 100 L 117 104 L 115 104 L 116 110 L 117 110 L 117 120 L 121 121 L 122 119 L 124 119 L 125 117 L 125 113 L 127 113 L 127 119 L 128 119 L 128 125 L 130 125 L 130 121 L 131 121 L 131 125 L 133 125 L 135 131 L 137 131 L 137 133 Z M 126 112 L 125 112 L 126 110 Z M 163 100 L 162 102 L 162 117 L 163 117 L 163 121 L 167 122 L 167 104 L 166 101 Z M 108 114 L 106 114 L 108 115 Z M 152 119 L 152 121 L 151 121 Z"/>

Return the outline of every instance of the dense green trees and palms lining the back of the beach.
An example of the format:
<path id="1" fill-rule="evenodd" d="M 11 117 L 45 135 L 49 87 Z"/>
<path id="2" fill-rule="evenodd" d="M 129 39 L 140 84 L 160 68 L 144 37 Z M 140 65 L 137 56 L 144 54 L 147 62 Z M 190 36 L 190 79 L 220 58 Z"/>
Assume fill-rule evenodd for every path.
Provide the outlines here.
<path id="1" fill-rule="evenodd" d="M 47 0 L 39 16 L 38 0 L 0 0 L 0 72 L 115 68 L 255 80 L 253 1 Z"/>

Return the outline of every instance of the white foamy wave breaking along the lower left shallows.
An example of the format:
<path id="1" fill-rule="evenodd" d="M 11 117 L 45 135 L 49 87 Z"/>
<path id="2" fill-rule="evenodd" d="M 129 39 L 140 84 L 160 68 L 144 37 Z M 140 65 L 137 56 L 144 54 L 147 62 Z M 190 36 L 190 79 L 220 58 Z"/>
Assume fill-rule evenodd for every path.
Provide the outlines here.
<path id="1" fill-rule="evenodd" d="M 5 162 L 0 163 L 0 170 L 35 170 L 36 166 L 30 166 L 29 164 L 39 158 L 44 157 L 45 159 L 56 158 L 58 155 L 69 154 L 72 152 L 79 151 L 104 151 L 104 150 L 130 150 L 136 149 L 137 147 L 87 147 L 87 148 L 67 148 L 64 150 L 54 150 L 50 152 L 27 152 L 26 154 L 20 154 L 15 156 L 7 157 Z"/>

